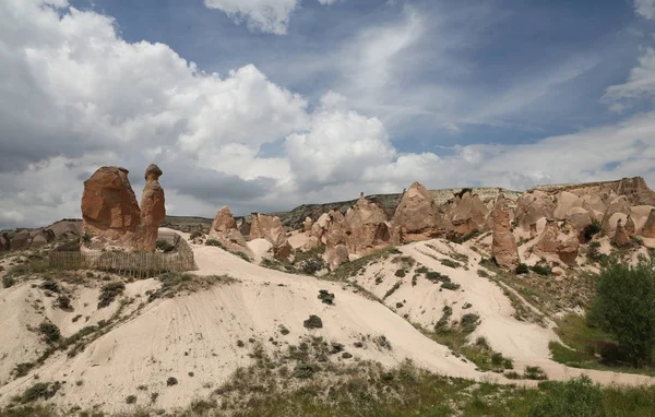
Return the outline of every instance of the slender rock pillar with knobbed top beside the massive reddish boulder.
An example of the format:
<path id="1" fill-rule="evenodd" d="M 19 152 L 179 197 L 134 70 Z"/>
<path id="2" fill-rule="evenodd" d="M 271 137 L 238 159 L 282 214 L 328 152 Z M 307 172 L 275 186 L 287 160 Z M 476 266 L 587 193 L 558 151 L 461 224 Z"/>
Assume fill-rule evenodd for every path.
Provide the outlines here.
<path id="1" fill-rule="evenodd" d="M 159 226 L 166 217 L 164 189 L 159 184 L 162 169 L 151 164 L 145 170 L 145 187 L 141 194 L 141 224 L 139 243 L 141 250 L 153 251 L 157 241 Z"/>

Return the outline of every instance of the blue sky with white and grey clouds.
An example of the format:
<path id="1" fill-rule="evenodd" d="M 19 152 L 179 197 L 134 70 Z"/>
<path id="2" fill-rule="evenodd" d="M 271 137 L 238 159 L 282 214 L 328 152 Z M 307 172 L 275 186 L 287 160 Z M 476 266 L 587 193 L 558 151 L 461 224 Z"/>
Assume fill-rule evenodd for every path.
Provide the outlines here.
<path id="1" fill-rule="evenodd" d="M 643 176 L 655 0 L 0 1 L 0 228 L 164 170 L 169 214 Z"/>

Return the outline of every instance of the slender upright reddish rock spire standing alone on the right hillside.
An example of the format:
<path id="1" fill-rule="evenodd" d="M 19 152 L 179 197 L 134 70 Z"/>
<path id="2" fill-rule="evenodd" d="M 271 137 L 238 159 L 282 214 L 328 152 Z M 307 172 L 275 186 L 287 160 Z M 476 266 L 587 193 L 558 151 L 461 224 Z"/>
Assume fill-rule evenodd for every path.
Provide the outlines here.
<path id="1" fill-rule="evenodd" d="M 501 193 L 496 199 L 491 211 L 493 238 L 491 252 L 496 263 L 504 269 L 515 269 L 519 265 L 519 249 L 510 228 L 510 207 Z"/>

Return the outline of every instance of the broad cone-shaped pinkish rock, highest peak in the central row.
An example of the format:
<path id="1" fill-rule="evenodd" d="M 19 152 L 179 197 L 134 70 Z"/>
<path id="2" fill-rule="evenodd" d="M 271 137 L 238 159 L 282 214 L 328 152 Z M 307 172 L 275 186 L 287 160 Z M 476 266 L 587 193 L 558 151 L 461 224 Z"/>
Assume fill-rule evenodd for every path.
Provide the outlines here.
<path id="1" fill-rule="evenodd" d="M 432 194 L 418 182 L 403 193 L 392 223 L 400 234 L 394 240 L 401 242 L 432 239 L 452 228 L 440 215 Z"/>

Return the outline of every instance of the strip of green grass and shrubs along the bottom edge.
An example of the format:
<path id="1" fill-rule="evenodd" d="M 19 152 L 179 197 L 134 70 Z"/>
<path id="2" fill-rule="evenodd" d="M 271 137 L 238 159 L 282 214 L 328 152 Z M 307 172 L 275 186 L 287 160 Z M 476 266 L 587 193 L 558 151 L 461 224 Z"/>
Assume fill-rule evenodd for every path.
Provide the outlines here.
<path id="1" fill-rule="evenodd" d="M 379 377 L 353 376 L 348 381 L 325 389 L 312 378 L 302 380 L 290 392 L 251 392 L 243 409 L 225 412 L 216 400 L 196 400 L 180 416 L 527 416 L 600 417 L 654 416 L 655 388 L 602 388 L 587 377 L 568 382 L 543 382 L 538 388 L 474 384 L 456 378 L 437 377 L 403 365 Z M 41 385 L 47 386 L 41 383 Z M 39 388 L 44 388 L 39 386 Z M 255 385 L 253 385 L 255 386 Z M 248 389 L 248 386 L 242 386 Z M 32 390 L 38 397 L 46 390 Z M 31 392 L 31 393 L 32 393 Z M 386 394 L 385 394 L 386 393 Z M 397 396 L 402 394 L 402 396 Z M 32 401 L 32 396 L 21 397 Z M 104 416 L 102 413 L 88 415 Z M 156 414 L 140 408 L 118 416 L 140 417 Z M 73 416 L 47 405 L 16 405 L 0 410 L 0 417 Z"/>

